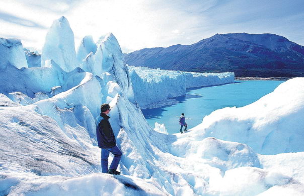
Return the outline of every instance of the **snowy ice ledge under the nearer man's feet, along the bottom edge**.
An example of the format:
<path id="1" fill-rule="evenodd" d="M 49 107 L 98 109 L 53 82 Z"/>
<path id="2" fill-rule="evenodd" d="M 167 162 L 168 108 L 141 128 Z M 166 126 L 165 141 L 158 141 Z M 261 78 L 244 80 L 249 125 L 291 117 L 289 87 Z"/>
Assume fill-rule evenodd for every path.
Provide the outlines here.
<path id="1" fill-rule="evenodd" d="M 92 173 L 84 176 L 37 176 L 19 165 L 0 163 L 1 195 L 166 195 L 152 181 L 132 176 Z M 9 176 L 8 176 L 8 172 Z M 20 186 L 14 186 L 22 184 Z M 13 185 L 13 186 L 12 186 Z"/>

